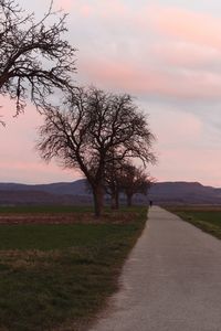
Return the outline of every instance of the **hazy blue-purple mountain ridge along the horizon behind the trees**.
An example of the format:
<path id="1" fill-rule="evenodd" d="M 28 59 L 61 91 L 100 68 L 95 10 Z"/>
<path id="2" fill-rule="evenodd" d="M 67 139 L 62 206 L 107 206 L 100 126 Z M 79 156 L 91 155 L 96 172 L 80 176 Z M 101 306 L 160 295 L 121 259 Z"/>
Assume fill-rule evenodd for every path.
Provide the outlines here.
<path id="1" fill-rule="evenodd" d="M 158 204 L 221 204 L 221 189 L 198 182 L 159 182 L 148 196 L 136 194 L 136 203 L 152 200 Z M 86 180 L 51 184 L 0 183 L 0 204 L 90 204 Z"/>

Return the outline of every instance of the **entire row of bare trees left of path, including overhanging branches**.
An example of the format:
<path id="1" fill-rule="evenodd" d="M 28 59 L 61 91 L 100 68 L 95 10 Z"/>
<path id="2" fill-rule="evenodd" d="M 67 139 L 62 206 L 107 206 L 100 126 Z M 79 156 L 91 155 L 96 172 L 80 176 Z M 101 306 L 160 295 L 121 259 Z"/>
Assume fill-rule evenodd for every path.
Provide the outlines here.
<path id="1" fill-rule="evenodd" d="M 44 117 L 36 143 L 40 156 L 81 170 L 99 216 L 105 192 L 117 207 L 119 190 L 128 204 L 135 192 L 147 191 L 145 168 L 156 162 L 155 137 L 130 95 L 73 84 L 75 49 L 63 38 L 66 14 L 52 8 L 53 1 L 36 22 L 15 0 L 0 0 L 0 93 L 15 102 L 17 114 L 27 100 L 36 106 Z M 135 167 L 136 160 L 143 168 Z"/>

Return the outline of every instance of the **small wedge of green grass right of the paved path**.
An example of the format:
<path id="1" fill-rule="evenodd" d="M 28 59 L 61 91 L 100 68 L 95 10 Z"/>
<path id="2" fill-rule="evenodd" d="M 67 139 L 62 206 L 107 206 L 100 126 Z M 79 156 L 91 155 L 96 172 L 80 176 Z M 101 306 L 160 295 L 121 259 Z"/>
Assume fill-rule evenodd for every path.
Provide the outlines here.
<path id="1" fill-rule="evenodd" d="M 167 210 L 221 239 L 221 206 L 175 206 Z"/>

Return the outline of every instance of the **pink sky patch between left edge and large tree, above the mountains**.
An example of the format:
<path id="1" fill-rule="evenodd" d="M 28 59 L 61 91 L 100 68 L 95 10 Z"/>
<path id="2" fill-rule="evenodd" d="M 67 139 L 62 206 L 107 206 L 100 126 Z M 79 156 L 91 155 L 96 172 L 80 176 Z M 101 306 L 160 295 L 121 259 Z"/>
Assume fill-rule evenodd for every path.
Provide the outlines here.
<path id="1" fill-rule="evenodd" d="M 81 177 L 75 170 L 63 170 L 55 162 L 46 164 L 34 150 L 36 128 L 43 122 L 42 116 L 32 105 L 25 113 L 13 117 L 14 105 L 8 98 L 0 98 L 0 114 L 6 128 L 0 126 L 0 182 L 17 181 L 48 183 L 73 181 Z"/>

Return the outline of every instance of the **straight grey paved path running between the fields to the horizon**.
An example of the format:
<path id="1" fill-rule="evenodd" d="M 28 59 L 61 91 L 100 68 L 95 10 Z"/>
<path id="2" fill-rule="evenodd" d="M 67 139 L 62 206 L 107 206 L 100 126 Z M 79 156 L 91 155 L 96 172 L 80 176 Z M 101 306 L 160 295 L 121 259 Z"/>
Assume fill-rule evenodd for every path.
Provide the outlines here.
<path id="1" fill-rule="evenodd" d="M 221 331 L 221 242 L 154 206 L 91 331 Z"/>

